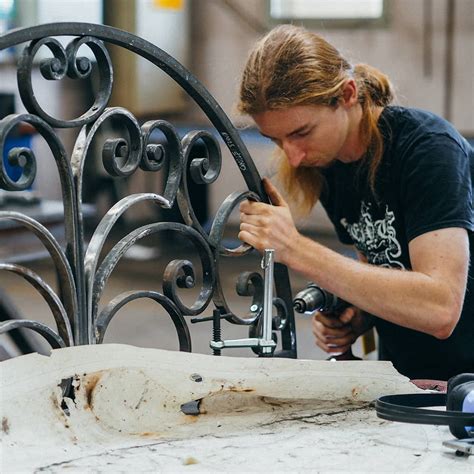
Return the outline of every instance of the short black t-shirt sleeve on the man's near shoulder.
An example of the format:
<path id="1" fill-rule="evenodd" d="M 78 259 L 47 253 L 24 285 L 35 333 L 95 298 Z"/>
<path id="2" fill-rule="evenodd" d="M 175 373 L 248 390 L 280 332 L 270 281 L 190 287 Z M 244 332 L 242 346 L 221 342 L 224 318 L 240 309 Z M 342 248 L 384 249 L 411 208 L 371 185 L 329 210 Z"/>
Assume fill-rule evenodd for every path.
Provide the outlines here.
<path id="1" fill-rule="evenodd" d="M 474 230 L 469 153 L 459 143 L 430 135 L 402 162 L 400 201 L 408 241 L 447 227 Z"/>

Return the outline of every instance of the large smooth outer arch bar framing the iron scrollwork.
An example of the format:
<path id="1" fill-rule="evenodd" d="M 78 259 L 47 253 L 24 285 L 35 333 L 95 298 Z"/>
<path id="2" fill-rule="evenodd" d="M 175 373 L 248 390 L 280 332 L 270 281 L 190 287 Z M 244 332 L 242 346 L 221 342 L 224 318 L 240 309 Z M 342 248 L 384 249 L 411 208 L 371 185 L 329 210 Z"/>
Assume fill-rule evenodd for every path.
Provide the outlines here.
<path id="1" fill-rule="evenodd" d="M 128 49 L 155 64 L 175 80 L 200 106 L 221 135 L 239 167 L 249 190 L 269 202 L 257 169 L 242 142 L 237 130 L 222 111 L 215 99 L 204 86 L 179 62 L 155 45 L 116 28 L 87 23 L 55 23 L 13 30 L 0 37 L 0 50 L 27 41 L 35 41 L 48 36 L 91 36 Z M 76 253 L 76 255 L 78 255 Z M 80 253 L 79 253 L 80 256 Z M 75 266 L 74 266 L 75 268 Z M 294 316 L 291 307 L 291 289 L 286 267 L 275 265 L 275 286 L 277 294 L 286 302 L 289 324 L 282 334 L 282 342 L 288 356 L 296 356 Z M 80 292 L 80 289 L 78 289 Z"/>

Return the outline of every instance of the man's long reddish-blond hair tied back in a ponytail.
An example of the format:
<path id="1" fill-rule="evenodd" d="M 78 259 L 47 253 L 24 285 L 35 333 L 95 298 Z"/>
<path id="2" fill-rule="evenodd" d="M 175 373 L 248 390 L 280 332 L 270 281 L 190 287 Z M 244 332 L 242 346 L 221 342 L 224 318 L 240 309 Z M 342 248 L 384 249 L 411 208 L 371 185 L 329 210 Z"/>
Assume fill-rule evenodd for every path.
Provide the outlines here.
<path id="1" fill-rule="evenodd" d="M 281 25 L 257 42 L 242 74 L 237 105 L 243 114 L 295 105 L 335 107 L 346 81 L 354 78 L 362 107 L 360 136 L 366 146 L 369 183 L 374 190 L 383 154 L 377 108 L 393 100 L 388 77 L 367 64 L 351 64 L 324 38 L 305 28 Z M 323 178 L 317 168 L 293 168 L 283 150 L 278 177 L 288 197 L 307 214 L 319 199 Z"/>

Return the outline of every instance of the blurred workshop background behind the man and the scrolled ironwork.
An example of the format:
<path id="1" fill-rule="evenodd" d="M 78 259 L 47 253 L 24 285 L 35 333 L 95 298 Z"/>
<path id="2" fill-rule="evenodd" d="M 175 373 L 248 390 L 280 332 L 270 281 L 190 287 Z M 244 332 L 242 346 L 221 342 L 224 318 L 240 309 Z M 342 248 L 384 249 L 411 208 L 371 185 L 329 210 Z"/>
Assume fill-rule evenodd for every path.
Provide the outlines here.
<path id="1" fill-rule="evenodd" d="M 347 13 L 351 4 L 356 6 L 354 18 L 338 17 L 337 11 L 327 9 L 336 3 L 344 5 Z M 318 4 L 318 5 L 316 5 Z M 312 10 L 312 6 L 321 7 Z M 293 10 L 292 10 L 293 8 Z M 304 12 L 301 9 L 306 8 Z M 360 10 L 357 10 L 359 8 Z M 360 16 L 362 11 L 362 17 Z M 272 18 L 274 16 L 281 17 Z M 375 18 L 364 18 L 364 13 L 375 12 Z M 381 16 L 378 14 L 381 12 Z M 291 19 L 291 15 L 295 19 Z M 314 15 L 313 18 L 309 18 Z M 319 16 L 318 16 L 319 15 Z M 304 20 L 301 17 L 308 17 Z M 232 121 L 241 128 L 245 144 L 262 175 L 272 173 L 269 157 L 273 145 L 260 137 L 251 123 L 239 117 L 234 110 L 240 73 L 249 49 L 254 42 L 278 21 L 305 24 L 321 33 L 338 47 L 352 62 L 369 63 L 384 71 L 397 90 L 401 105 L 430 110 L 450 120 L 466 138 L 474 139 L 474 1 L 473 0 L 1 0 L 0 27 L 3 31 L 15 26 L 30 26 L 57 21 L 84 21 L 104 23 L 136 33 L 167 51 L 182 62 L 222 106 Z M 23 112 L 16 86 L 16 73 L 12 62 L 16 52 L 6 52 L 0 57 L 0 105 L 3 113 Z M 197 107 L 173 81 L 146 61 L 139 61 L 132 54 L 111 49 L 115 66 L 115 81 L 111 105 L 129 109 L 145 121 L 163 118 L 179 130 L 201 129 L 210 124 Z M 39 101 L 47 103 L 53 115 L 73 117 L 81 113 L 84 104 L 91 101 L 94 80 L 77 90 L 77 81 L 35 83 Z M 13 94 L 13 96 L 12 96 Z M 13 97 L 13 99 L 12 99 Z M 13 100 L 13 102 L 12 102 Z M 4 114 L 5 114 L 4 113 Z M 61 131 L 64 143 L 72 150 L 77 130 Z M 41 167 L 35 181 L 34 192 L 41 199 L 61 198 L 58 177 L 51 173 L 52 156 L 47 145 L 38 136 L 30 137 L 31 145 Z M 91 170 L 91 183 L 85 199 L 100 217 L 110 203 L 125 192 L 155 191 L 162 189 L 161 182 L 151 182 L 138 173 L 126 183 L 110 182 L 102 175 L 100 164 Z M 230 154 L 223 149 L 223 169 L 216 183 L 201 189 L 195 200 L 199 202 L 200 219 L 212 221 L 212 216 L 228 195 L 229 190 L 245 189 Z M 127 215 L 126 228 L 136 222 L 153 219 L 149 209 L 140 209 Z M 92 218 L 94 221 L 94 217 Z M 229 240 L 236 240 L 237 215 L 232 216 Z M 303 232 L 321 240 L 331 248 L 350 254 L 335 239 L 332 227 L 319 207 L 310 218 L 299 222 Z M 232 227 L 232 226 L 231 226 Z M 18 254 L 21 242 L 5 242 L 0 232 L 0 249 L 12 248 Z M 27 244 L 29 245 L 29 244 Z M 179 243 L 178 243 L 179 245 Z M 15 246 L 16 250 L 15 250 Z M 176 246 L 176 245 L 175 245 Z M 110 282 L 108 292 L 140 288 L 156 278 L 161 260 L 167 259 L 172 242 L 150 242 L 144 248 L 130 252 L 127 263 L 118 267 Z M 10 250 L 9 250 L 10 252 Z M 13 258 L 13 257 L 12 257 Z M 257 270 L 258 256 L 249 257 L 250 265 Z M 35 270 L 54 283 L 50 264 L 35 258 Z M 230 261 L 225 270 L 226 284 L 235 286 L 239 271 L 248 269 L 249 261 Z M 5 272 L 3 272 L 5 273 Z M 305 281 L 291 274 L 293 292 L 301 289 Z M 0 288 L 4 289 L 23 314 L 52 324 L 46 304 L 32 294 L 28 287 L 14 275 L 0 275 Z M 230 295 L 234 290 L 229 290 Z M 107 296 L 107 295 L 106 295 Z M 246 307 L 235 295 L 234 311 Z M 244 301 L 245 303 L 245 301 Z M 169 318 L 157 318 L 153 303 L 133 303 L 133 318 L 118 317 L 110 327 L 106 342 L 122 342 L 143 347 L 176 349 Z M 325 358 L 314 346 L 310 321 L 297 315 L 298 353 L 300 358 Z M 224 336 L 243 337 L 245 328 L 226 325 Z M 242 332 L 244 331 L 244 332 Z M 204 323 L 192 325 L 194 351 L 210 353 L 208 347 L 211 327 Z M 361 354 L 356 347 L 356 353 Z M 229 351 L 226 355 L 251 355 L 248 350 Z"/>

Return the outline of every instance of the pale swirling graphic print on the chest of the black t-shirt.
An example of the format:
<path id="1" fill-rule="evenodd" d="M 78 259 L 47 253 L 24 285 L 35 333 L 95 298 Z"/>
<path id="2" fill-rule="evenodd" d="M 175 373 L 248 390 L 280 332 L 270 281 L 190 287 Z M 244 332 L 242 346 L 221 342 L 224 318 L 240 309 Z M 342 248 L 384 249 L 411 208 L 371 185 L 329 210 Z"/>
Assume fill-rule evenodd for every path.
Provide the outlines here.
<path id="1" fill-rule="evenodd" d="M 341 224 L 369 263 L 405 270 L 403 263 L 397 260 L 402 249 L 397 240 L 397 230 L 393 226 L 395 214 L 386 206 L 385 216 L 374 220 L 371 209 L 372 203 L 361 201 L 359 222 L 351 224 L 343 218 Z"/>

